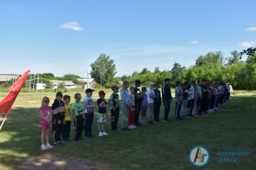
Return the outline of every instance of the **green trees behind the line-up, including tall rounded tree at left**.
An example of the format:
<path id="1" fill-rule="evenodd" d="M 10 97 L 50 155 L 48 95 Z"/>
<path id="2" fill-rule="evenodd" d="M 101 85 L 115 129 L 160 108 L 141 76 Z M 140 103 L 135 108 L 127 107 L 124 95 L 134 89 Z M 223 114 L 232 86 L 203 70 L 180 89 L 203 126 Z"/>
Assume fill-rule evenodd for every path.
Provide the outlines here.
<path id="1" fill-rule="evenodd" d="M 241 55 L 246 54 L 246 61 L 241 61 Z M 256 54 L 255 48 L 237 52 L 230 52 L 230 57 L 224 58 L 222 52 L 208 52 L 199 56 L 195 65 L 186 68 L 179 63 L 174 63 L 170 70 L 159 70 L 159 67 L 150 72 L 143 68 L 141 72 L 133 72 L 131 75 L 115 77 L 116 65 L 113 59 L 106 54 L 100 54 L 99 58 L 92 63 L 91 75 L 102 86 L 110 87 L 116 81 L 134 82 L 140 79 L 143 85 L 147 86 L 151 81 L 163 84 L 166 77 L 169 77 L 172 86 L 175 81 L 182 77 L 182 82 L 208 79 L 209 81 L 230 82 L 234 89 L 256 89 Z"/>

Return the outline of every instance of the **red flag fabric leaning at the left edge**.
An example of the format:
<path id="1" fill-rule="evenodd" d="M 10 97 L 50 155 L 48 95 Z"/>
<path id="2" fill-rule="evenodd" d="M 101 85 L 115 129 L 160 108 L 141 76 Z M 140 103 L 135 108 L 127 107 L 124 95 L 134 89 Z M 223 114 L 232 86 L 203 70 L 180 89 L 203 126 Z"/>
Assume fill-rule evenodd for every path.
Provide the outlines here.
<path id="1" fill-rule="evenodd" d="M 0 102 L 0 113 L 9 114 L 12 108 L 12 105 L 20 92 L 20 89 L 24 82 L 26 81 L 30 70 L 23 73 L 19 79 L 10 87 L 10 93 Z"/>

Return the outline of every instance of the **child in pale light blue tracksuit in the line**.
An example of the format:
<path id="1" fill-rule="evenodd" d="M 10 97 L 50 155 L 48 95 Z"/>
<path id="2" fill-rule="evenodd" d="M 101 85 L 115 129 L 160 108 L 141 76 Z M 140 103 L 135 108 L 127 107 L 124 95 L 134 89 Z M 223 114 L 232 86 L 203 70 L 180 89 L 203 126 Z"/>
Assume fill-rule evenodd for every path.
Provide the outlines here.
<path id="1" fill-rule="evenodd" d="M 122 101 L 122 119 L 121 119 L 121 129 L 123 131 L 127 131 L 127 118 L 128 118 L 128 110 L 131 106 L 131 100 L 129 97 L 128 88 L 130 83 L 128 81 L 123 82 L 123 88 L 121 89 L 121 101 Z"/>

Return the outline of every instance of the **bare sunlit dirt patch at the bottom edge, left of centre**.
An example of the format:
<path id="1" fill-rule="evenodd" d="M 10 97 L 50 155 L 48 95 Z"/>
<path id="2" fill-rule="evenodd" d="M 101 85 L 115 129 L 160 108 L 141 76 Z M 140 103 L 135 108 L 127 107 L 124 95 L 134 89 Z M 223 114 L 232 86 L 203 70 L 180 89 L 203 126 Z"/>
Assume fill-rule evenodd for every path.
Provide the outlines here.
<path id="1" fill-rule="evenodd" d="M 60 155 L 45 154 L 40 157 L 30 157 L 24 160 L 19 167 L 15 169 L 113 169 L 109 164 L 102 162 L 93 162 L 92 160 L 63 157 Z"/>

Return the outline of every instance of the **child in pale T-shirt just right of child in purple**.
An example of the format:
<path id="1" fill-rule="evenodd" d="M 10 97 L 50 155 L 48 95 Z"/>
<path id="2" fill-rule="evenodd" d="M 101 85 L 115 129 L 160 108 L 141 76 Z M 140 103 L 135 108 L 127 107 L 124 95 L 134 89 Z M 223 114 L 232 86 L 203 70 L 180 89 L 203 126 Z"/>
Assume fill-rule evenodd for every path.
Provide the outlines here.
<path id="1" fill-rule="evenodd" d="M 149 109 L 148 123 L 153 123 L 152 117 L 154 114 L 154 98 L 156 98 L 154 86 L 155 86 L 154 82 L 151 82 L 149 89 L 147 90 L 148 109 Z"/>

